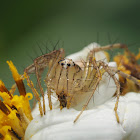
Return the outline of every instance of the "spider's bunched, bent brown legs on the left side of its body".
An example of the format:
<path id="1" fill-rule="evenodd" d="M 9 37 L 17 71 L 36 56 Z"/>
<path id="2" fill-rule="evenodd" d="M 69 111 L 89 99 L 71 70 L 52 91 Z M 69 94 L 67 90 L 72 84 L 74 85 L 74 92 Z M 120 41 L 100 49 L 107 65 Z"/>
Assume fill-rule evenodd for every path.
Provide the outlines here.
<path id="1" fill-rule="evenodd" d="M 54 50 L 51 53 L 44 54 L 42 56 L 37 57 L 34 60 L 34 63 L 32 65 L 28 66 L 24 70 L 25 77 L 27 79 L 27 83 L 30 86 L 32 92 L 34 93 L 36 99 L 38 100 L 39 110 L 40 110 L 41 116 L 43 114 L 45 114 L 45 112 L 46 112 L 46 110 L 45 110 L 44 91 L 43 91 L 43 88 L 41 86 L 41 81 L 40 81 L 41 80 L 41 74 L 42 74 L 42 72 L 44 71 L 44 69 L 46 67 L 49 67 L 49 70 L 48 70 L 48 75 L 49 75 L 49 72 L 51 71 L 51 68 L 54 66 L 54 63 L 56 61 L 61 60 L 63 57 L 64 57 L 64 50 L 63 49 Z M 43 97 L 43 110 L 42 110 L 39 94 L 38 94 L 37 90 L 34 88 L 34 85 L 33 85 L 32 81 L 29 78 L 29 74 L 31 74 L 31 73 L 35 73 L 36 77 L 37 77 L 38 86 L 39 86 L 40 92 L 41 92 L 42 97 Z M 47 88 L 48 88 L 49 107 L 50 107 L 50 109 L 52 109 L 51 91 L 49 90 L 49 86 Z"/>

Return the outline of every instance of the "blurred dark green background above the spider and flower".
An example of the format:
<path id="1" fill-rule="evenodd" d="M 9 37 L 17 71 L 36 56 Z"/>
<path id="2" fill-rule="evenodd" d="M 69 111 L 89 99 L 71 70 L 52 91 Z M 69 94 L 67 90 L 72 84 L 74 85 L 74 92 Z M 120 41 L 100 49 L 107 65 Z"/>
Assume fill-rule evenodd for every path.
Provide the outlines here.
<path id="1" fill-rule="evenodd" d="M 41 55 L 39 45 L 64 42 L 66 54 L 91 42 L 126 43 L 137 52 L 140 43 L 140 1 L 135 0 L 1 0 L 0 79 L 13 83 L 6 60 L 20 73 Z M 134 44 L 136 43 L 136 44 Z M 133 44 L 133 45 L 132 45 Z M 48 47 L 52 49 L 51 43 Z M 35 51 L 34 51 L 35 50 Z M 36 54 L 36 53 L 37 54 Z"/>

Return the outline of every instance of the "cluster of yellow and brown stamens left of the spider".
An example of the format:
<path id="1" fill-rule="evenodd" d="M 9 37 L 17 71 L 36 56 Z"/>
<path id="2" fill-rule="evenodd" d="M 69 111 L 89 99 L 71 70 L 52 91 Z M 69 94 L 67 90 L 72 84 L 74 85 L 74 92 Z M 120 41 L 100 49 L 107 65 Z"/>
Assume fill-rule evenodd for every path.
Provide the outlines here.
<path id="1" fill-rule="evenodd" d="M 16 67 L 11 61 L 7 61 L 13 78 L 16 82 L 20 96 L 12 95 L 16 89 L 13 85 L 10 92 L 0 80 L 0 139 L 18 140 L 24 139 L 25 130 L 29 122 L 33 119 L 29 100 L 33 98 L 31 93 L 25 91 L 22 77 L 18 74 Z M 10 96 L 9 96 L 10 95 Z"/>

